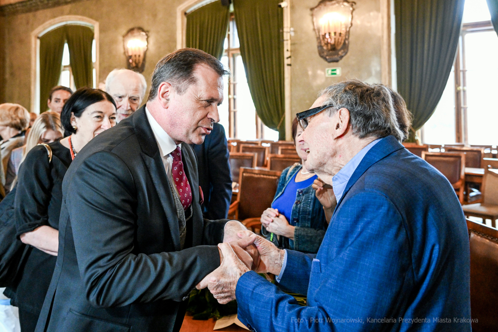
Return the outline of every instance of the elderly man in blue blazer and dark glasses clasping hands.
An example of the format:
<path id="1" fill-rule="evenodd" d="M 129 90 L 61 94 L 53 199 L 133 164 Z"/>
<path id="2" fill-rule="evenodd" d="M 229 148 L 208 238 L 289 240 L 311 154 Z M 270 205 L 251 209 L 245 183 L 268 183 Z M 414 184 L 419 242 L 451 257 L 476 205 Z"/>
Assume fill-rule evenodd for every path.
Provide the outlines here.
<path id="1" fill-rule="evenodd" d="M 237 299 L 250 331 L 471 331 L 469 239 L 446 178 L 400 144 L 387 89 L 346 81 L 297 114 L 306 168 L 337 198 L 316 255 L 251 234 L 255 272 L 220 244 L 221 266 L 201 281 Z M 307 295 L 300 306 L 284 291 Z"/>

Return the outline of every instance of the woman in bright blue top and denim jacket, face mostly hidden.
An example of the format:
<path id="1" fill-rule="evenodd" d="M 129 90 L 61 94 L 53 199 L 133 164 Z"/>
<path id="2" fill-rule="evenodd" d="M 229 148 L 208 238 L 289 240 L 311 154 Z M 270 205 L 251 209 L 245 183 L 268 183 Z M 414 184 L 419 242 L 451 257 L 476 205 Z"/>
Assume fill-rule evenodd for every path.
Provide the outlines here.
<path id="1" fill-rule="evenodd" d="M 304 166 L 308 154 L 300 139 L 302 132 L 294 118 L 292 138 L 301 164 L 287 167 L 280 175 L 271 208 L 261 215 L 261 234 L 278 247 L 315 253 L 322 243 L 335 205 L 330 207 L 329 195 L 321 195 L 323 190 L 318 189 L 320 180 Z M 312 187 L 314 182 L 317 194 Z M 328 209 L 324 209 L 317 197 Z"/>

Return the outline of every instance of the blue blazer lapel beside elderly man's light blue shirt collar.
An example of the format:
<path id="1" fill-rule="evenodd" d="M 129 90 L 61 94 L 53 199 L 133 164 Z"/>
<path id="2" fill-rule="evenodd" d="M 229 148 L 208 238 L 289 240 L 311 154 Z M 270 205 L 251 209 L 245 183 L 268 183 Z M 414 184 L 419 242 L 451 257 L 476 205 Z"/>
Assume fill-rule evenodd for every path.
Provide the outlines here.
<path id="1" fill-rule="evenodd" d="M 403 145 L 401 145 L 392 135 L 382 138 L 377 144 L 375 144 L 370 149 L 370 151 L 367 152 L 365 157 L 363 157 L 362 161 L 349 179 L 348 184 L 346 185 L 346 189 L 344 190 L 341 200 L 339 201 L 339 203 L 337 203 L 334 213 L 339 208 L 342 201 L 344 201 L 344 197 L 346 197 L 348 191 L 351 189 L 351 187 L 353 187 L 353 185 L 358 181 L 363 173 L 365 173 L 377 161 L 402 148 L 404 148 Z"/>

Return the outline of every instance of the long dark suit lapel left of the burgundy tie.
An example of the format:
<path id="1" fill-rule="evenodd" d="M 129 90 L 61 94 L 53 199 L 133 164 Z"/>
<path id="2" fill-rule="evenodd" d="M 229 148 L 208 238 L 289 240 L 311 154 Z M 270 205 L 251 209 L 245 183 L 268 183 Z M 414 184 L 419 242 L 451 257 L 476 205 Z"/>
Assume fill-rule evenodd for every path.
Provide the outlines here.
<path id="1" fill-rule="evenodd" d="M 157 196 L 161 202 L 162 209 L 166 215 L 171 239 L 175 250 L 180 250 L 180 229 L 178 226 L 178 216 L 176 214 L 173 195 L 169 186 L 169 179 L 164 169 L 164 164 L 159 153 L 159 147 L 150 127 L 145 106 L 142 106 L 133 116 L 133 127 L 135 128 L 138 142 L 142 148 L 141 157 L 149 171 L 152 183 L 156 189 Z M 155 207 L 152 207 L 155 208 Z"/>

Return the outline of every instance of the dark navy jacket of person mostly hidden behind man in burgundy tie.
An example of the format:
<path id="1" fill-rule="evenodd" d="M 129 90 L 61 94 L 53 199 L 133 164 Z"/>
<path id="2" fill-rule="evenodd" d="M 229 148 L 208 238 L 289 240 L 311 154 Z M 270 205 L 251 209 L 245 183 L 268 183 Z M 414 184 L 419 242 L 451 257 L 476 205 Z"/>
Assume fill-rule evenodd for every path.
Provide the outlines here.
<path id="1" fill-rule="evenodd" d="M 197 156 L 199 185 L 204 193 L 202 213 L 207 219 L 227 218 L 232 199 L 232 177 L 225 129 L 214 123 L 204 143 L 191 146 Z"/>

